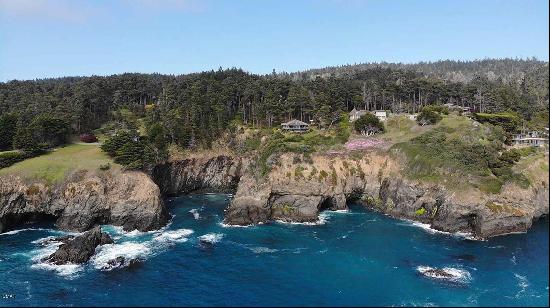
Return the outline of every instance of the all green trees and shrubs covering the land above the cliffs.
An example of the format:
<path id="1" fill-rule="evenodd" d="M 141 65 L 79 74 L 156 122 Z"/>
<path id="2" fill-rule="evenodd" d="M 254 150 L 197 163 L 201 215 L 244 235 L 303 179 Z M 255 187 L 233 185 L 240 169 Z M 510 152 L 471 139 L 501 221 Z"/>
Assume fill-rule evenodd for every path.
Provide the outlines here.
<path id="1" fill-rule="evenodd" d="M 359 160 L 365 150 L 391 148 L 404 154 L 412 178 L 471 176 L 478 188 L 491 192 L 510 181 L 526 187 L 528 178 L 513 168 L 517 153 L 504 149 L 521 125 L 540 127 L 548 119 L 548 78 L 541 69 L 548 64 L 517 60 L 509 63 L 510 71 L 499 71 L 502 78 L 489 77 L 486 66 L 501 67 L 499 61 L 510 62 L 440 63 L 442 71 L 479 69 L 475 78 L 461 80 L 426 73 L 435 63 L 329 68 L 338 73 L 321 75 L 220 69 L 1 83 L 0 166 L 55 155 L 52 150 L 70 136 L 98 140 L 113 164 L 124 169 L 151 171 L 170 156 L 219 147 L 253 157 L 251 167 L 260 176 L 278 166 L 284 153 L 294 154 L 300 164 L 320 152 L 346 152 Z M 514 69 L 526 67 L 519 79 Z M 469 118 L 444 103 L 474 112 Z M 350 122 L 353 108 L 389 110 L 391 116 L 382 122 L 367 113 Z M 408 115 L 416 112 L 415 122 Z M 292 118 L 310 123 L 309 130 L 281 131 L 279 124 Z M 305 176 L 301 170 L 292 173 Z M 332 179 L 324 173 L 320 170 L 319 177 Z"/>

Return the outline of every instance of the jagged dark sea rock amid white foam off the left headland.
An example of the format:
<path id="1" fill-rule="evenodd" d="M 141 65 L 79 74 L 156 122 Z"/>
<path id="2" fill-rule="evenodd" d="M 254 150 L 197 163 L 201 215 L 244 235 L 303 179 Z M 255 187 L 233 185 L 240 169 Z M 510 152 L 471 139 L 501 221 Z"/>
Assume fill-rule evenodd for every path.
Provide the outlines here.
<path id="1" fill-rule="evenodd" d="M 97 246 L 113 243 L 111 237 L 101 232 L 99 226 L 72 239 L 64 238 L 63 240 L 66 242 L 43 261 L 57 265 L 85 263 L 93 256 Z"/>

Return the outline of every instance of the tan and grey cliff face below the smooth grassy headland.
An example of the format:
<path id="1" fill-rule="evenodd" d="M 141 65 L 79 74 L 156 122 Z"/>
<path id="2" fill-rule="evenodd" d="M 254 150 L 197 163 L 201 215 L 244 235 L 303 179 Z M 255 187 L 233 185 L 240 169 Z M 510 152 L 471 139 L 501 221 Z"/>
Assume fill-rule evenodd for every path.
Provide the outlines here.
<path id="1" fill-rule="evenodd" d="M 169 216 L 158 187 L 142 172 L 78 174 L 54 187 L 0 178 L 0 232 L 45 218 L 63 230 L 112 224 L 147 231 L 164 226 Z"/>

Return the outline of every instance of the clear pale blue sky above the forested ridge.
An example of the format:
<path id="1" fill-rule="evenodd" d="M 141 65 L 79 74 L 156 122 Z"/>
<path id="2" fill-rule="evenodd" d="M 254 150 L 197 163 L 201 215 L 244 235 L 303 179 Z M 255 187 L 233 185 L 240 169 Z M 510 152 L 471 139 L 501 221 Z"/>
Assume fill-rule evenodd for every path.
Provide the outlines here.
<path id="1" fill-rule="evenodd" d="M 548 0 L 0 0 L 0 81 L 536 57 Z"/>

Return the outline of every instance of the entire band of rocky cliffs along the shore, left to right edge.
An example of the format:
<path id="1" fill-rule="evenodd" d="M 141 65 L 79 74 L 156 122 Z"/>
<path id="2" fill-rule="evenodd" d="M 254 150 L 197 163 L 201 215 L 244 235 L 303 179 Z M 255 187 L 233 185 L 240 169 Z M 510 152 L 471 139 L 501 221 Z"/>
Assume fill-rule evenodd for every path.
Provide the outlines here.
<path id="1" fill-rule="evenodd" d="M 495 195 L 457 194 L 408 180 L 398 163 L 374 153 L 361 159 L 320 155 L 308 164 L 283 155 L 263 178 L 251 163 L 230 156 L 193 158 L 158 165 L 151 177 L 136 171 L 80 174 L 55 187 L 0 178 L 0 232 L 46 218 L 63 230 L 85 231 L 98 224 L 159 229 L 169 221 L 162 198 L 190 192 L 235 193 L 224 215 L 229 225 L 315 222 L 320 212 L 345 210 L 347 202 L 357 201 L 436 230 L 488 238 L 526 232 L 548 215 L 545 181 L 528 189 L 506 185 Z"/>

